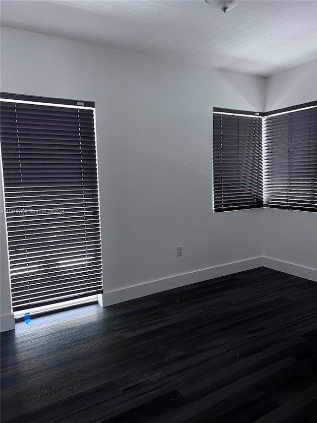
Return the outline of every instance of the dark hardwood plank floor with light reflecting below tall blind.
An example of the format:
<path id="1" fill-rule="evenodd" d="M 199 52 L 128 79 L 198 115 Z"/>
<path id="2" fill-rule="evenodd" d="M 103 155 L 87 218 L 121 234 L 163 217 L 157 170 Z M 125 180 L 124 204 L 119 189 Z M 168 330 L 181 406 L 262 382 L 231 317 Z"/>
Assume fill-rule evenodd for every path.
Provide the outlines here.
<path id="1" fill-rule="evenodd" d="M 317 283 L 264 267 L 1 335 L 1 422 L 317 422 Z"/>

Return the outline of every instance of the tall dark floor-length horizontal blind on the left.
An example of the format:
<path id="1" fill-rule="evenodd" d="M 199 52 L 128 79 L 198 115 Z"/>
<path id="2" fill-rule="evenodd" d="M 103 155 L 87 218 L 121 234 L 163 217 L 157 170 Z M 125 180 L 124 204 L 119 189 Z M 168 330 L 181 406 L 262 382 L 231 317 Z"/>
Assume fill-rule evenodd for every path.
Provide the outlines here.
<path id="1" fill-rule="evenodd" d="M 13 311 L 102 292 L 93 108 L 1 99 Z"/>

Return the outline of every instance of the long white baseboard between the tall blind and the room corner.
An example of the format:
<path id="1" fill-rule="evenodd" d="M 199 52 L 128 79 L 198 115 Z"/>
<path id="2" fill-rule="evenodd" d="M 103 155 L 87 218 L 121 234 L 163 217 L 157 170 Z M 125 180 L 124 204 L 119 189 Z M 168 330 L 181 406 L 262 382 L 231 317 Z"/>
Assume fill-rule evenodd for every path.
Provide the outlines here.
<path id="1" fill-rule="evenodd" d="M 134 300 L 169 289 L 179 288 L 185 285 L 203 282 L 261 266 L 263 266 L 263 257 L 255 257 L 248 260 L 223 264 L 221 266 L 210 267 L 208 269 L 197 270 L 195 272 L 184 273 L 182 275 L 171 276 L 157 281 L 121 288 L 115 291 L 104 292 L 99 295 L 99 303 L 101 306 L 106 307 L 107 305 Z"/>

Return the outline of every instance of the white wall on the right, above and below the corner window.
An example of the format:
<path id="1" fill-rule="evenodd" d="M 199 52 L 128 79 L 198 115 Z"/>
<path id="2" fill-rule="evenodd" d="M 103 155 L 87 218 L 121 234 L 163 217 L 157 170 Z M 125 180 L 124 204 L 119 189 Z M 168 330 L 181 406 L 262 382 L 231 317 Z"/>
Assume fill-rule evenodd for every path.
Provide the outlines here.
<path id="1" fill-rule="evenodd" d="M 266 78 L 265 111 L 316 98 L 317 60 Z M 264 256 L 273 259 L 264 265 L 317 281 L 317 213 L 264 209 Z"/>

